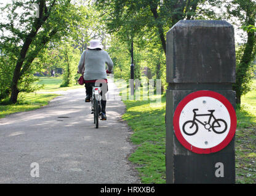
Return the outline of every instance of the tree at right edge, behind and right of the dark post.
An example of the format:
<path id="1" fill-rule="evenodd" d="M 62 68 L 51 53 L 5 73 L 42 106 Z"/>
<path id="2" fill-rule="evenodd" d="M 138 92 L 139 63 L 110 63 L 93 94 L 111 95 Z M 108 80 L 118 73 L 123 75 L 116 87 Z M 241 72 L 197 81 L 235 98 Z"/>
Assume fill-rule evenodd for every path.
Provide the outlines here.
<path id="1" fill-rule="evenodd" d="M 226 2 L 228 18 L 235 20 L 236 24 L 246 32 L 247 40 L 237 51 L 236 83 L 233 85 L 236 91 L 236 103 L 241 104 L 241 96 L 250 90 L 252 61 L 256 53 L 256 1 L 232 0 Z"/>

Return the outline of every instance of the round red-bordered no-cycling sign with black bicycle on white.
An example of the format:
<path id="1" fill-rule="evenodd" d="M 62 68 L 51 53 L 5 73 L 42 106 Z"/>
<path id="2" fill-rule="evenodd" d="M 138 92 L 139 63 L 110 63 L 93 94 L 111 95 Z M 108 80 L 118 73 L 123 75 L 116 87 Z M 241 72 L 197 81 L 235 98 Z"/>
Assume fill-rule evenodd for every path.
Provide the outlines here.
<path id="1" fill-rule="evenodd" d="M 236 132 L 236 112 L 226 97 L 214 91 L 186 96 L 174 112 L 174 132 L 182 145 L 198 154 L 225 148 Z"/>

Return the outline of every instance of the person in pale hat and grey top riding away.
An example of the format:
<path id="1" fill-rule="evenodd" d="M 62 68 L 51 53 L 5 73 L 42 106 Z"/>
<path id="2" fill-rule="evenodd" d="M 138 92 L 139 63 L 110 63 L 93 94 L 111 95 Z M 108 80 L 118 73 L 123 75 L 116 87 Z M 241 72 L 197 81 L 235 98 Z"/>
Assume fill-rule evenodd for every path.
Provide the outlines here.
<path id="1" fill-rule="evenodd" d="M 90 40 L 90 46 L 81 55 L 78 65 L 78 73 L 83 74 L 86 86 L 86 102 L 92 97 L 92 86 L 102 87 L 102 120 L 106 120 L 106 92 L 108 91 L 108 80 L 106 74 L 111 74 L 113 61 L 105 50 L 100 40 Z M 105 70 L 105 65 L 108 69 Z"/>

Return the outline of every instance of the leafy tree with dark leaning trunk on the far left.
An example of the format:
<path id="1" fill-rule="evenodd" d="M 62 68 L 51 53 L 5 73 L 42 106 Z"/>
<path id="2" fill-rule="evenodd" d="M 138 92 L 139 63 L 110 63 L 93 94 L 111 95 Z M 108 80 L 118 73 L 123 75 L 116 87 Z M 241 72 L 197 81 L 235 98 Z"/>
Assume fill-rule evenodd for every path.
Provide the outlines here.
<path id="1" fill-rule="evenodd" d="M 13 1 L 3 7 L 2 13 L 7 13 L 7 22 L 0 23 L 2 33 L 0 48 L 7 56 L 16 56 L 15 67 L 10 84 L 10 102 L 16 103 L 18 93 L 30 91 L 31 63 L 42 52 L 47 44 L 58 41 L 69 34 L 78 25 L 82 17 L 79 8 L 70 3 L 71 0 L 37 0 Z M 32 4 L 39 5 L 39 17 L 33 18 Z M 15 12 L 23 8 L 22 15 Z M 22 85 L 26 84 L 26 88 Z"/>

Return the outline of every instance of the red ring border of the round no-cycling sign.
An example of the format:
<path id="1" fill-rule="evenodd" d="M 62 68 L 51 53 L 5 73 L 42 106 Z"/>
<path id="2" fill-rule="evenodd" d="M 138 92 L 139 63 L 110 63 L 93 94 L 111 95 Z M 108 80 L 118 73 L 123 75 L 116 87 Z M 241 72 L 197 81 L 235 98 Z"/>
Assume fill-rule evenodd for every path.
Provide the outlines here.
<path id="1" fill-rule="evenodd" d="M 219 143 L 217 146 L 214 146 L 212 148 L 198 148 L 196 146 L 191 145 L 188 143 L 188 141 L 185 140 L 185 138 L 182 136 L 182 133 L 180 131 L 180 125 L 179 125 L 179 119 L 180 114 L 182 113 L 183 108 L 185 107 L 188 102 L 190 102 L 193 99 L 196 99 L 198 97 L 212 97 L 214 99 L 219 100 L 222 102 L 223 105 L 225 105 L 226 109 L 228 110 L 228 113 L 230 114 L 230 130 L 228 132 L 228 135 L 226 135 L 225 139 Z M 223 148 L 225 148 L 230 141 L 233 139 L 234 134 L 236 132 L 236 125 L 237 125 L 237 119 L 236 119 L 236 111 L 234 110 L 232 104 L 229 102 L 226 97 L 222 96 L 222 94 L 219 94 L 218 92 L 214 91 L 196 91 L 192 92 L 191 94 L 188 94 L 182 101 L 178 104 L 176 110 L 174 111 L 174 133 L 180 141 L 180 143 L 188 150 L 192 151 L 193 153 L 198 154 L 210 154 L 210 153 L 216 153 Z"/>

